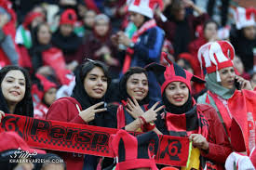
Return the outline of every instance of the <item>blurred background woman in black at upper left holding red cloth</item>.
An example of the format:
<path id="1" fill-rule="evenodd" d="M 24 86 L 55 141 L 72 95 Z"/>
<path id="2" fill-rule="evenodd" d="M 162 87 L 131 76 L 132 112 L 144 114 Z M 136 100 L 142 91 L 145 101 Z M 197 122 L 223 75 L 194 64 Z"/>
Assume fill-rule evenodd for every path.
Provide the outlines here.
<path id="1" fill-rule="evenodd" d="M 69 85 L 70 79 L 66 74 L 70 74 L 66 68 L 63 53 L 58 47 L 51 45 L 51 31 L 47 23 L 37 25 L 33 32 L 33 46 L 30 48 L 30 56 L 33 71 L 45 76 L 54 76 L 61 85 Z"/>

